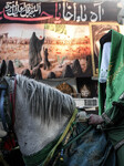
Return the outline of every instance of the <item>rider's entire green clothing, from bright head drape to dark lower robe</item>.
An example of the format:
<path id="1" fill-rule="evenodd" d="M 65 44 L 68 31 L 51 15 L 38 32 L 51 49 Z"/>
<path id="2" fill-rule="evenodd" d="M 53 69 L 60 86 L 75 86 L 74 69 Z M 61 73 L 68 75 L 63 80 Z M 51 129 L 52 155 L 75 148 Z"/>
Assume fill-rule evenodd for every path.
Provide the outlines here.
<path id="1" fill-rule="evenodd" d="M 104 129 L 116 149 L 117 166 L 124 166 L 124 35 L 111 30 L 111 56 L 106 83 L 99 82 L 99 114 Z M 100 49 L 99 73 L 102 61 Z M 122 144 L 121 144 L 122 143 Z"/>

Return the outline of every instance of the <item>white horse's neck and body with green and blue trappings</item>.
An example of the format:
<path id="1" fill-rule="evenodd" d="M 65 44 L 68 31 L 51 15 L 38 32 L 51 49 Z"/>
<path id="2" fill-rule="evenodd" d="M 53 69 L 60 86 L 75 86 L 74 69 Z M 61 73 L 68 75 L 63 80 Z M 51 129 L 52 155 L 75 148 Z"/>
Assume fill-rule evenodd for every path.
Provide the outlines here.
<path id="1" fill-rule="evenodd" d="M 13 127 L 27 166 L 115 166 L 105 134 L 78 121 L 70 95 L 22 75 L 1 75 L 14 95 Z"/>

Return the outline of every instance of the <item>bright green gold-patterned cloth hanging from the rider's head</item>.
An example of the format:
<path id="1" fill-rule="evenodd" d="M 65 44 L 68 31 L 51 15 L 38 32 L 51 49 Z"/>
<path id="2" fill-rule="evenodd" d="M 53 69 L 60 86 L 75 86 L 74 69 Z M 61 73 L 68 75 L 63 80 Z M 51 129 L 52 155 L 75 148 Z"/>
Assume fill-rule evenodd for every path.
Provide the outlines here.
<path id="1" fill-rule="evenodd" d="M 111 58 L 106 81 L 106 97 L 104 85 L 99 83 L 99 113 L 104 112 L 104 100 L 106 110 L 112 107 L 112 102 L 117 101 L 124 92 L 124 35 L 112 30 Z M 99 71 L 101 69 L 102 46 L 99 56 Z M 100 73 L 100 72 L 99 72 Z M 105 98 L 104 98 L 105 97 Z"/>

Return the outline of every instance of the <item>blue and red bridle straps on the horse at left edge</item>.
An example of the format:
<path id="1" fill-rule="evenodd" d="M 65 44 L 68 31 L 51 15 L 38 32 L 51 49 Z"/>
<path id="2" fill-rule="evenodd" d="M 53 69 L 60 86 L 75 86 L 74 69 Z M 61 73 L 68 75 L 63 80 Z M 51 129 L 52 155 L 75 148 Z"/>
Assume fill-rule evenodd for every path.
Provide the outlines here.
<path id="1" fill-rule="evenodd" d="M 10 80 L 13 77 L 3 76 L 0 80 L 0 116 L 3 128 L 7 133 L 13 129 L 14 124 L 14 93 L 10 89 Z"/>

